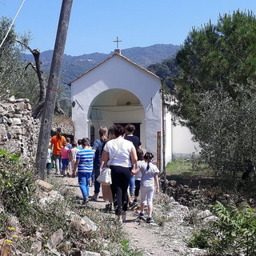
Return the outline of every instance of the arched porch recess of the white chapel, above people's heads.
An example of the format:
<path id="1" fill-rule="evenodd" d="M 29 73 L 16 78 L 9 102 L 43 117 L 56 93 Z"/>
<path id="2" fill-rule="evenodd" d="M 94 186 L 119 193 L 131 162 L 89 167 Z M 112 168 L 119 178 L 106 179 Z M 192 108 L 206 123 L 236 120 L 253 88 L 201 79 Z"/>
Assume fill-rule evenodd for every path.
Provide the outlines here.
<path id="1" fill-rule="evenodd" d="M 98 138 L 100 126 L 133 123 L 137 127 L 142 147 L 146 147 L 145 110 L 138 97 L 128 90 L 110 89 L 98 94 L 90 104 L 87 120 L 91 141 Z"/>

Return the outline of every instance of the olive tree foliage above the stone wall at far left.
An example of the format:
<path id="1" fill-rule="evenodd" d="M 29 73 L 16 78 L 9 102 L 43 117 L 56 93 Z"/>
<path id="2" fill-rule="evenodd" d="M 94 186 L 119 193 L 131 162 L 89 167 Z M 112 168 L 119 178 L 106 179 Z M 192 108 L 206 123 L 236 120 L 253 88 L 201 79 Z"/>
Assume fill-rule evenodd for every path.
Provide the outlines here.
<path id="1" fill-rule="evenodd" d="M 0 18 L 0 42 L 6 36 L 11 20 Z M 0 97 L 14 95 L 16 98 L 29 98 L 32 104 L 38 101 L 38 78 L 32 66 L 22 61 L 24 46 L 30 42 L 30 34 L 18 36 L 14 26 L 0 49 Z M 6 91 L 8 90 L 8 92 Z"/>

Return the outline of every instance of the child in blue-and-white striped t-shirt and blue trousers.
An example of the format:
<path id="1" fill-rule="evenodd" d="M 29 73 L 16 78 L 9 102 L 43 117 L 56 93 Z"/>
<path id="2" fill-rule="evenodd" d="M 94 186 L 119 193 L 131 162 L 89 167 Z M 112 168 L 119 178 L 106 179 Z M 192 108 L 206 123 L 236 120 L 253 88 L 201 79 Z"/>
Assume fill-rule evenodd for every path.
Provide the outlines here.
<path id="1" fill-rule="evenodd" d="M 89 202 L 90 178 L 94 167 L 94 150 L 90 149 L 90 139 L 82 139 L 82 150 L 78 151 L 74 163 L 73 177 L 78 167 L 78 182 L 82 191 L 83 204 Z"/>

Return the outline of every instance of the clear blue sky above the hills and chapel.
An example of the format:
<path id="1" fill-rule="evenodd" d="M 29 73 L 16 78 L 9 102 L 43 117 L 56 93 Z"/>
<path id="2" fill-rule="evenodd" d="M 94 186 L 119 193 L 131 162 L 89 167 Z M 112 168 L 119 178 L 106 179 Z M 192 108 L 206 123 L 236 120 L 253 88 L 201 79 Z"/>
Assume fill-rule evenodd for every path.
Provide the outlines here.
<path id="1" fill-rule="evenodd" d="M 0 0 L 0 17 L 13 19 L 23 0 Z M 25 0 L 15 22 L 19 34 L 30 32 L 30 48 L 53 50 L 62 0 Z M 65 53 L 109 54 L 120 49 L 182 45 L 193 27 L 219 14 L 252 10 L 255 0 L 73 0 Z"/>

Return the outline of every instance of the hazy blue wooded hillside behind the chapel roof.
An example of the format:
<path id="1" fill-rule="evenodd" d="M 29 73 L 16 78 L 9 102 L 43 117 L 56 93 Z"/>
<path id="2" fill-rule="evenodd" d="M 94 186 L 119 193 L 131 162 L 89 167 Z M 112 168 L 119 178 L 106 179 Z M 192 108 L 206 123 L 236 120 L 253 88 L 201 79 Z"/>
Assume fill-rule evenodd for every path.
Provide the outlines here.
<path id="1" fill-rule="evenodd" d="M 178 49 L 179 46 L 174 46 L 172 44 L 157 44 L 154 46 L 124 49 L 122 50 L 122 55 L 137 63 L 139 66 L 146 68 L 150 64 L 162 62 L 163 59 L 174 57 Z M 62 83 L 67 84 L 73 81 L 75 78 L 78 78 L 78 76 L 98 65 L 112 54 L 114 54 L 114 52 L 111 52 L 110 54 L 82 54 L 79 56 L 64 54 L 61 74 Z M 52 55 L 53 50 L 46 50 L 41 53 L 42 68 L 46 74 L 49 74 L 50 72 Z M 31 54 L 24 54 L 23 56 L 28 61 L 34 61 Z"/>

